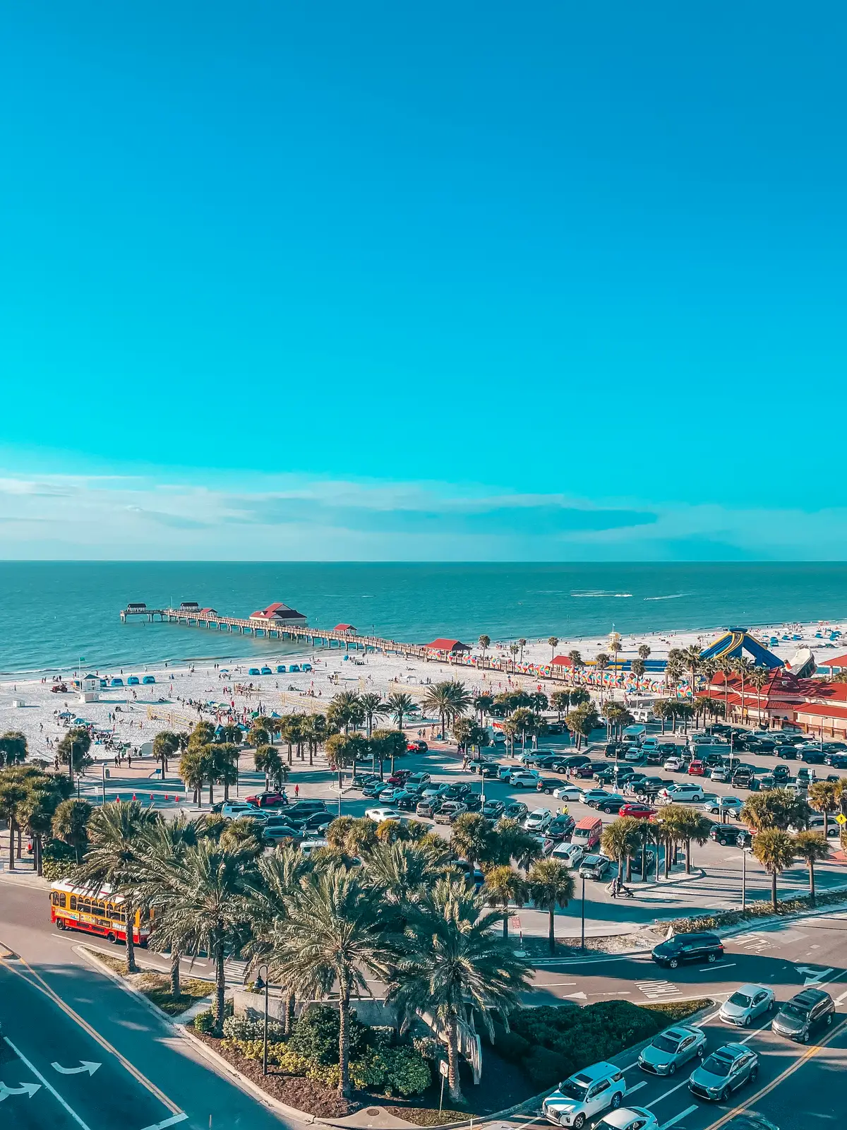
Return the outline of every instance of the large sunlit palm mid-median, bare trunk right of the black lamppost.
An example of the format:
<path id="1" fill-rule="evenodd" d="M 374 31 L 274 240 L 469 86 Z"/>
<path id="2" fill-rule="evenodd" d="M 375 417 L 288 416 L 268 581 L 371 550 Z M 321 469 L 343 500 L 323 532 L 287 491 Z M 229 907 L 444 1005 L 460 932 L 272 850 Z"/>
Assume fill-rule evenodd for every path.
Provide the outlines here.
<path id="1" fill-rule="evenodd" d="M 367 992 L 365 973 L 387 976 L 379 904 L 342 867 L 313 872 L 294 892 L 288 916 L 271 933 L 269 975 L 300 996 L 339 994 L 339 1094 L 350 1094 L 350 1000 Z"/>

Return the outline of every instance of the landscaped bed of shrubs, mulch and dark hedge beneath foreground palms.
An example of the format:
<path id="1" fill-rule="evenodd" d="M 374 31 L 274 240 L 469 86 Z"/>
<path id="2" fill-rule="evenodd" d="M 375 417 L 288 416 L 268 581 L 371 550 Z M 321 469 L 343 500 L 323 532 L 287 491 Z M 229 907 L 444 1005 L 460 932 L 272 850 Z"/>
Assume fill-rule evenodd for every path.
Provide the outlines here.
<path id="1" fill-rule="evenodd" d="M 508 1018 L 509 1031 L 495 1022 L 495 1042 L 482 1055 L 478 1087 L 463 1079 L 468 1095 L 461 1110 L 438 1110 L 438 1061 L 445 1049 L 431 1037 L 398 1036 L 392 1027 L 369 1027 L 353 1020 L 350 1074 L 355 1086 L 347 1099 L 338 1094 L 338 1010 L 307 1006 L 292 1031 L 269 1022 L 268 1075 L 262 1074 L 264 1022 L 257 1016 L 230 1016 L 222 1038 L 211 1035 L 211 1010 L 194 1017 L 193 1032 L 233 1068 L 278 1102 L 325 1120 L 352 1114 L 363 1105 L 379 1105 L 417 1125 L 446 1125 L 490 1118 L 539 1097 L 574 1071 L 609 1059 L 652 1038 L 670 1024 L 687 1019 L 709 1000 L 640 1007 L 629 1001 L 521 1008 Z"/>

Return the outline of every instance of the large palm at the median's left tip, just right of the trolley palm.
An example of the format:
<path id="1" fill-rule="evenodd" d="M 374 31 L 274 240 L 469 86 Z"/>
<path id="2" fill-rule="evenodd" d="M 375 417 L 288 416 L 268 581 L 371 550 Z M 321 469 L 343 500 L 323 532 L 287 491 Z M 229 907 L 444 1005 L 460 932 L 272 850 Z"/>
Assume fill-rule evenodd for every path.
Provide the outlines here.
<path id="1" fill-rule="evenodd" d="M 154 918 L 151 941 L 182 954 L 206 950 L 215 962 L 215 1033 L 224 1026 L 227 949 L 241 944 L 255 895 L 252 853 L 227 851 L 202 838 L 174 862 L 168 898 Z"/>

